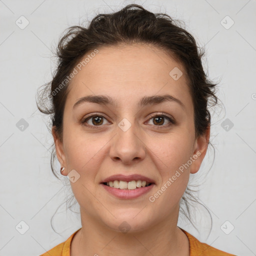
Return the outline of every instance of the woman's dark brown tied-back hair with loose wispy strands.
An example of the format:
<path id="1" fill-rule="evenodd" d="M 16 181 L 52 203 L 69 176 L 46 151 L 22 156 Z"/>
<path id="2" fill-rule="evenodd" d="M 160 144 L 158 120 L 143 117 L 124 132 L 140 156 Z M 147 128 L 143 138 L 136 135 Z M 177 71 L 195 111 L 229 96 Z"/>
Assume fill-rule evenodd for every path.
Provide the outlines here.
<path id="1" fill-rule="evenodd" d="M 117 12 L 96 15 L 87 28 L 69 27 L 58 42 L 56 52 L 58 63 L 53 79 L 43 85 L 38 103 L 36 102 L 42 113 L 51 115 L 52 126 L 59 139 L 62 140 L 63 109 L 68 93 L 69 80 L 66 77 L 85 54 L 95 48 L 121 43 L 143 43 L 157 46 L 169 52 L 175 60 L 183 64 L 193 100 L 195 135 L 204 134 L 210 125 L 208 106 L 217 104 L 218 100 L 215 95 L 216 84 L 211 82 L 204 73 L 201 63 L 204 55 L 203 49 L 196 45 L 193 36 L 183 29 L 179 22 L 167 14 L 152 13 L 140 5 L 129 4 Z M 62 86 L 59 86 L 60 84 Z M 61 89 L 57 91 L 59 87 Z M 47 100 L 50 100 L 48 105 Z M 51 169 L 54 175 L 55 159 L 53 143 Z M 184 203 L 189 217 L 189 200 L 186 197 L 197 201 L 191 191 L 193 190 L 187 187 L 181 198 L 181 203 Z M 182 208 L 181 211 L 189 219 Z"/>

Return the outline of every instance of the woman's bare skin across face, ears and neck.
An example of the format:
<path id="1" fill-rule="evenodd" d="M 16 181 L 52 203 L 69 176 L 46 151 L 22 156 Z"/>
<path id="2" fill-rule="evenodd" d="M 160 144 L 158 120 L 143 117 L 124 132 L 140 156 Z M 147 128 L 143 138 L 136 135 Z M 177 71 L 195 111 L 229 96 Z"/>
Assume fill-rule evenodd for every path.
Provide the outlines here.
<path id="1" fill-rule="evenodd" d="M 169 72 L 178 67 L 183 75 L 174 80 Z M 63 114 L 63 139 L 52 129 L 56 155 L 65 169 L 80 177 L 70 182 L 80 205 L 82 228 L 71 243 L 71 256 L 94 255 L 189 255 L 186 235 L 177 227 L 180 198 L 189 173 L 196 173 L 207 150 L 209 131 L 195 137 L 193 103 L 184 67 L 155 46 L 140 44 L 103 47 L 81 68 L 69 84 Z M 85 102 L 81 97 L 104 94 L 119 107 Z M 170 94 L 184 104 L 162 102 L 137 107 L 142 96 Z M 88 114 L 100 113 L 100 125 Z M 157 124 L 150 114 L 172 116 Z M 99 115 L 99 114 L 98 114 Z M 150 116 L 149 116 L 150 115 Z M 126 118 L 131 127 L 118 123 Z M 169 125 L 170 124 L 170 125 Z M 163 128 L 159 128 L 159 127 Z M 157 198 L 153 195 L 189 157 L 200 152 L 185 171 Z M 99 183 L 113 174 L 142 174 L 155 180 L 150 192 L 134 199 L 119 199 Z M 126 221 L 130 229 L 118 226 Z M 96 255 L 97 255 L 96 254 Z"/>

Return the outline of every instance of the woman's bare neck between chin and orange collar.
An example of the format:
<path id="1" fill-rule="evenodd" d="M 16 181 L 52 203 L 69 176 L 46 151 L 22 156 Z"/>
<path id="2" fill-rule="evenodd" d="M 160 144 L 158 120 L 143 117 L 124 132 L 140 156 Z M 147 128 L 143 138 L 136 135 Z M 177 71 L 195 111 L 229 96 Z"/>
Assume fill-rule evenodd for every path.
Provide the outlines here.
<path id="1" fill-rule="evenodd" d="M 178 208 L 174 215 L 150 228 L 121 232 L 110 229 L 81 210 L 82 228 L 72 239 L 70 256 L 189 256 L 188 238 L 177 227 L 177 218 Z"/>

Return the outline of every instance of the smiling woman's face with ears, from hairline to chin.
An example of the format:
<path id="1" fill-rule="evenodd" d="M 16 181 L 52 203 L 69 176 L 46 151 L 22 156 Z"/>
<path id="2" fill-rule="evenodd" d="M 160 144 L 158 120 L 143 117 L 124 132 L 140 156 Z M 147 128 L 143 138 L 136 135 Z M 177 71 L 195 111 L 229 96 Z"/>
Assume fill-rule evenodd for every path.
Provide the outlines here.
<path id="1" fill-rule="evenodd" d="M 63 142 L 53 132 L 58 160 L 65 174 L 72 171 L 68 176 L 81 218 L 135 231 L 177 217 L 189 173 L 199 169 L 209 134 L 208 129 L 195 138 L 183 66 L 159 48 L 138 44 L 100 48 L 83 65 L 69 84 Z M 165 94 L 176 99 L 147 100 Z M 115 104 L 80 100 L 88 95 L 104 95 Z M 143 175 L 130 181 L 151 179 L 153 184 L 121 190 L 102 183 L 118 174 Z"/>

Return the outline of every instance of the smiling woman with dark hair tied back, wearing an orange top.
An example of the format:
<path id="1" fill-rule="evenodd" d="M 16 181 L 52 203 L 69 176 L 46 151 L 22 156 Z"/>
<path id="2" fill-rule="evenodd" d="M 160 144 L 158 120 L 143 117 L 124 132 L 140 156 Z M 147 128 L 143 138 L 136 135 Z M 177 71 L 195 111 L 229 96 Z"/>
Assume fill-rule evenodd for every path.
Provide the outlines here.
<path id="1" fill-rule="evenodd" d="M 194 38 L 135 4 L 74 26 L 50 90 L 60 173 L 82 227 L 44 255 L 232 255 L 177 226 L 209 143 L 215 84 Z M 41 102 L 43 103 L 43 102 Z"/>

